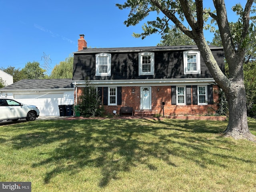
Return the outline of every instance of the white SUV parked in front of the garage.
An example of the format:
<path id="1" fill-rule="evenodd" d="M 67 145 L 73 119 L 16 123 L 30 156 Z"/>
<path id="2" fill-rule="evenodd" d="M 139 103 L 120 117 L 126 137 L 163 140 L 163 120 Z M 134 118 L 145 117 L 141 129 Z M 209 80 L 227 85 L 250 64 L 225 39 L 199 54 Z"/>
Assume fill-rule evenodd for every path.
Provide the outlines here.
<path id="1" fill-rule="evenodd" d="M 0 121 L 26 119 L 34 121 L 39 116 L 39 109 L 34 105 L 25 105 L 18 101 L 0 98 Z"/>

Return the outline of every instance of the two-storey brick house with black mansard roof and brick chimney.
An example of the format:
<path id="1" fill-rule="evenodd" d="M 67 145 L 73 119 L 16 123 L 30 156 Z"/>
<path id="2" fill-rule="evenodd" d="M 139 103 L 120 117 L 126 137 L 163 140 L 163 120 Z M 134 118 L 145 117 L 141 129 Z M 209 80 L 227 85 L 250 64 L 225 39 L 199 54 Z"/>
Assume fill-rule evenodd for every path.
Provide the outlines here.
<path id="1" fill-rule="evenodd" d="M 98 89 L 107 113 L 132 107 L 135 115 L 207 114 L 218 108 L 215 84 L 195 45 L 86 48 L 84 35 L 74 52 L 74 102 L 85 78 Z M 224 72 L 222 47 L 210 46 Z"/>

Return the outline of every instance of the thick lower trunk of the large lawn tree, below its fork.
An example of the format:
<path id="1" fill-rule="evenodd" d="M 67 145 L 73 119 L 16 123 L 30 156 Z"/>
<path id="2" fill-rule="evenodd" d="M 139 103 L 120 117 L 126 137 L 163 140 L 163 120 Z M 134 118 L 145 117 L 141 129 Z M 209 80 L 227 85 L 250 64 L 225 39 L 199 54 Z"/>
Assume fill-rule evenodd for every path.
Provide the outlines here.
<path id="1" fill-rule="evenodd" d="M 229 122 L 224 134 L 235 139 L 246 138 L 255 141 L 255 137 L 248 128 L 244 82 L 232 82 L 226 96 L 229 106 Z"/>

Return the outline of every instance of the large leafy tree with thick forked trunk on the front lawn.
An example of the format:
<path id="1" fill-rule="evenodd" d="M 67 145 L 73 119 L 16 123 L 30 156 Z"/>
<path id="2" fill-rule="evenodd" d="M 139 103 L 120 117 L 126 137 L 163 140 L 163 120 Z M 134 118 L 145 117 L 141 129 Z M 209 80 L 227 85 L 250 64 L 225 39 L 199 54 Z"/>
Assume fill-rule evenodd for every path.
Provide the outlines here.
<path id="1" fill-rule="evenodd" d="M 134 26 L 144 20 L 151 12 L 156 12 L 155 20 L 148 21 L 138 35 L 142 39 L 153 33 L 166 33 L 173 23 L 184 34 L 194 40 L 206 66 L 216 83 L 225 92 L 229 106 L 229 123 L 224 131 L 226 136 L 254 140 L 248 128 L 246 112 L 246 92 L 244 88 L 243 64 L 246 43 L 249 42 L 250 12 L 254 0 L 247 0 L 244 8 L 237 4 L 234 11 L 238 14 L 241 29 L 235 36 L 231 34 L 224 0 L 213 0 L 215 11 L 203 6 L 203 0 L 127 0 L 124 4 L 116 4 L 118 8 L 130 9 L 126 26 Z M 162 14 L 160 14 L 162 13 Z M 228 63 L 229 77 L 219 68 L 204 37 L 206 20 L 211 17 L 218 26 L 224 54 Z M 186 21 L 186 22 L 185 22 Z M 189 28 L 185 25 L 189 25 Z M 236 42 L 236 43 L 234 43 Z"/>

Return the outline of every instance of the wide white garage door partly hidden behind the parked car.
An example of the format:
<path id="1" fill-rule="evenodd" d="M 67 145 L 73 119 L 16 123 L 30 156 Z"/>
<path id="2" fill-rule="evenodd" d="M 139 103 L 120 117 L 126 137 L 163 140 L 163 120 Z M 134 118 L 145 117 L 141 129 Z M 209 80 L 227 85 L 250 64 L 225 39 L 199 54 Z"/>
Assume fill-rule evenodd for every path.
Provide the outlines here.
<path id="1" fill-rule="evenodd" d="M 37 106 L 40 116 L 60 116 L 58 105 L 63 104 L 63 95 L 63 93 L 15 94 L 14 99 L 24 104 Z"/>

